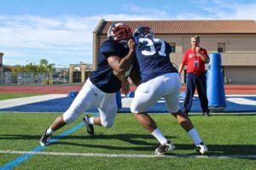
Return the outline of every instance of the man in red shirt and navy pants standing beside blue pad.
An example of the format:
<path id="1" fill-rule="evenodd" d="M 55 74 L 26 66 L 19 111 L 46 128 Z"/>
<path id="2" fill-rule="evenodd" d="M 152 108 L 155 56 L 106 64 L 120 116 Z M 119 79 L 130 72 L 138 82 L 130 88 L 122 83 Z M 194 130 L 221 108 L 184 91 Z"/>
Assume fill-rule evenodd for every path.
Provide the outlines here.
<path id="1" fill-rule="evenodd" d="M 207 77 L 205 64 L 209 63 L 207 50 L 199 46 L 200 37 L 191 37 L 192 47 L 187 49 L 183 55 L 183 61 L 179 66 L 178 73 L 181 74 L 187 65 L 186 96 L 183 102 L 183 111 L 189 113 L 195 94 L 195 87 L 201 102 L 203 115 L 210 116 L 207 99 Z"/>

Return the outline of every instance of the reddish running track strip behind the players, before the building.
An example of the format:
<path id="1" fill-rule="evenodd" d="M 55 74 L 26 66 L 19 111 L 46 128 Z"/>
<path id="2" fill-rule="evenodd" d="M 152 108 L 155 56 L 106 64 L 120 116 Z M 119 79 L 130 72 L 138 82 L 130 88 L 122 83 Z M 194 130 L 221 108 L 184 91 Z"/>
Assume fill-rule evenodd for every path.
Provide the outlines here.
<path id="1" fill-rule="evenodd" d="M 70 91 L 79 91 L 79 85 L 54 86 L 0 86 L 0 94 L 68 94 Z M 256 85 L 225 85 L 225 94 L 256 94 Z M 131 87 L 131 91 L 136 88 Z M 182 86 L 181 91 L 184 91 Z"/>

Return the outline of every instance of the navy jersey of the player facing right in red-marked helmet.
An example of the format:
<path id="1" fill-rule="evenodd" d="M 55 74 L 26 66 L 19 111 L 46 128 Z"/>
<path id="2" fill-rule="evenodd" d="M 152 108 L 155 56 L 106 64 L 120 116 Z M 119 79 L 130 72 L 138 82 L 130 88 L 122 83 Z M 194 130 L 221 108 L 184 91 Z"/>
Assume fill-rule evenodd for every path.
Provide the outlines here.
<path id="1" fill-rule="evenodd" d="M 90 74 L 90 82 L 103 92 L 112 94 L 121 88 L 119 78 L 113 75 L 113 69 L 108 65 L 108 56 L 117 55 L 121 58 L 128 54 L 129 48 L 125 48 L 121 43 L 107 40 L 102 42 L 98 65 L 96 71 Z"/>

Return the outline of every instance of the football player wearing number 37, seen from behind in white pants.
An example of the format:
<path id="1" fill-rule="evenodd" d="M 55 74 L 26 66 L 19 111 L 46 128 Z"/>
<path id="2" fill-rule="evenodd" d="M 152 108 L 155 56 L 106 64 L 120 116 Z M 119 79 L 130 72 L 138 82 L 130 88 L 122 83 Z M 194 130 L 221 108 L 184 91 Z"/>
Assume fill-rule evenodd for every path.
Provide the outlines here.
<path id="1" fill-rule="evenodd" d="M 135 97 L 131 102 L 131 112 L 134 113 L 137 121 L 160 142 L 155 154 L 163 155 L 175 149 L 174 144 L 166 139 L 151 116 L 147 114 L 149 107 L 161 98 L 166 100 L 168 111 L 177 118 L 177 122 L 194 140 L 195 150 L 205 154 L 207 146 L 202 142 L 189 117 L 179 107 L 181 81 L 169 57 L 172 52 L 170 45 L 155 38 L 153 31 L 147 26 L 138 27 L 133 33 L 133 38 L 137 43 L 136 57 L 142 83 L 135 91 Z"/>

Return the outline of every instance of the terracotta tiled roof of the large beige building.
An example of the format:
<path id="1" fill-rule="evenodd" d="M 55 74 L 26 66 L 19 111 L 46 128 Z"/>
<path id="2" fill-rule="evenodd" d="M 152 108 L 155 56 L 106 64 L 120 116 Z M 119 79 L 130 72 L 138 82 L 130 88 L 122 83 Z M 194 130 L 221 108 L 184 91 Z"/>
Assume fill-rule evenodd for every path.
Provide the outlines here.
<path id="1" fill-rule="evenodd" d="M 129 20 L 103 21 L 99 35 L 107 35 L 113 23 L 123 22 L 134 31 L 149 26 L 154 34 L 256 34 L 255 20 Z"/>

